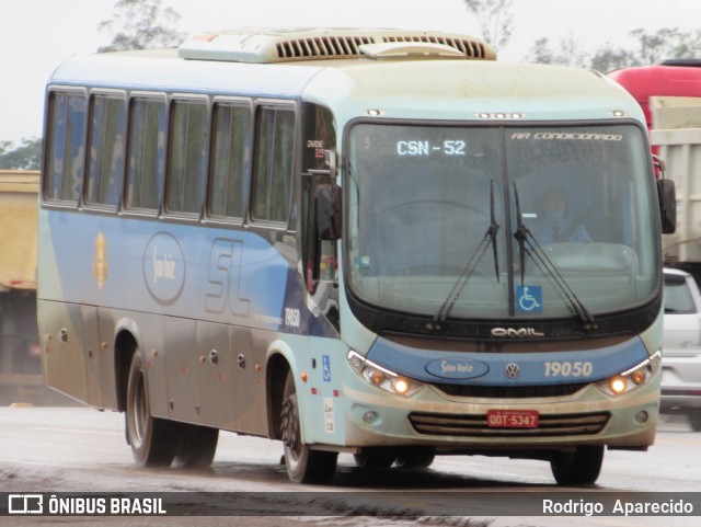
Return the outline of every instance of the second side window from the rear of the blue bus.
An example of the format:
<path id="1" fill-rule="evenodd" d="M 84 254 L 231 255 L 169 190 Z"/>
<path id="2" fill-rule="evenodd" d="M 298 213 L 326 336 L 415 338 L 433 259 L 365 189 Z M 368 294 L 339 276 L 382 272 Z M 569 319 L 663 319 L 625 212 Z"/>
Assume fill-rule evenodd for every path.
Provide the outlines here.
<path id="1" fill-rule="evenodd" d="M 93 95 L 90 118 L 85 202 L 116 210 L 124 177 L 126 101 L 114 95 Z"/>

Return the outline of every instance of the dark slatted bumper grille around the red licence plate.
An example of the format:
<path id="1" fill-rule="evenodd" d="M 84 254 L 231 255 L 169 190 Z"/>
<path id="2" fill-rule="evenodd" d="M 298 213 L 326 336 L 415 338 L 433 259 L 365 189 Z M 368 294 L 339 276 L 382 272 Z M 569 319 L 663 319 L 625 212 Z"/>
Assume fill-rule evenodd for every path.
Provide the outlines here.
<path id="1" fill-rule="evenodd" d="M 409 420 L 420 434 L 458 437 L 561 437 L 591 435 L 601 432 L 610 414 L 576 413 L 540 415 L 537 428 L 495 428 L 486 424 L 486 415 L 412 412 Z"/>

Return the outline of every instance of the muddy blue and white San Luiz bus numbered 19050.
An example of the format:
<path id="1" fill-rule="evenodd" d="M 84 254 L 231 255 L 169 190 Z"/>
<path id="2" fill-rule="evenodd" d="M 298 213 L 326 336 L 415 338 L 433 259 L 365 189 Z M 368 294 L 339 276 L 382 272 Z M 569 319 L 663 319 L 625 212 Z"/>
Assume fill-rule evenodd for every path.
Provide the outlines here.
<path id="1" fill-rule="evenodd" d="M 645 450 L 663 213 L 643 114 L 596 72 L 495 58 L 365 28 L 69 58 L 46 91 L 46 382 L 124 412 L 139 466 L 209 466 L 220 431 L 280 440 L 297 483 L 345 454 L 590 484 L 605 448 Z M 550 191 L 568 225 L 541 243 Z"/>

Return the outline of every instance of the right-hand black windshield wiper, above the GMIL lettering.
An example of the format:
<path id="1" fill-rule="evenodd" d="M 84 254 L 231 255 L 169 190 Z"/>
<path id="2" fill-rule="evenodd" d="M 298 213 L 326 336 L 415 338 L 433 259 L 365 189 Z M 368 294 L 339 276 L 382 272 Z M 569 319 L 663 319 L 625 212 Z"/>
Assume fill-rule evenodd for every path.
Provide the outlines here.
<path id="1" fill-rule="evenodd" d="M 518 199 L 518 188 L 514 183 L 514 199 L 516 202 L 516 232 L 514 238 L 518 241 L 518 263 L 521 275 L 521 286 L 524 286 L 525 273 L 526 273 L 526 255 L 528 254 L 536 266 L 543 274 L 550 275 L 552 282 L 560 288 L 564 297 L 567 299 L 574 311 L 579 317 L 582 324 L 586 331 L 594 331 L 597 328 L 594 317 L 589 310 L 582 303 L 577 295 L 572 290 L 572 287 L 567 284 L 564 277 L 558 271 L 555 264 L 550 260 L 545 251 L 542 250 L 538 240 L 533 233 L 526 227 L 521 217 L 521 207 Z M 526 244 L 530 247 L 530 251 L 526 248 Z"/>

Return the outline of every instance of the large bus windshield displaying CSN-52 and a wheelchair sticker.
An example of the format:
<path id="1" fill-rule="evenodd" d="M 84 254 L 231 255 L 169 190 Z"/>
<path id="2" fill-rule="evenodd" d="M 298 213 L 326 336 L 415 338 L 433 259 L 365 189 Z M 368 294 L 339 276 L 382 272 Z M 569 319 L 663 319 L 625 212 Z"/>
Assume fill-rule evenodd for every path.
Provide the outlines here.
<path id="1" fill-rule="evenodd" d="M 364 302 L 545 319 L 578 312 L 572 297 L 596 316 L 658 287 L 639 126 L 359 122 L 346 152 L 347 282 Z"/>

